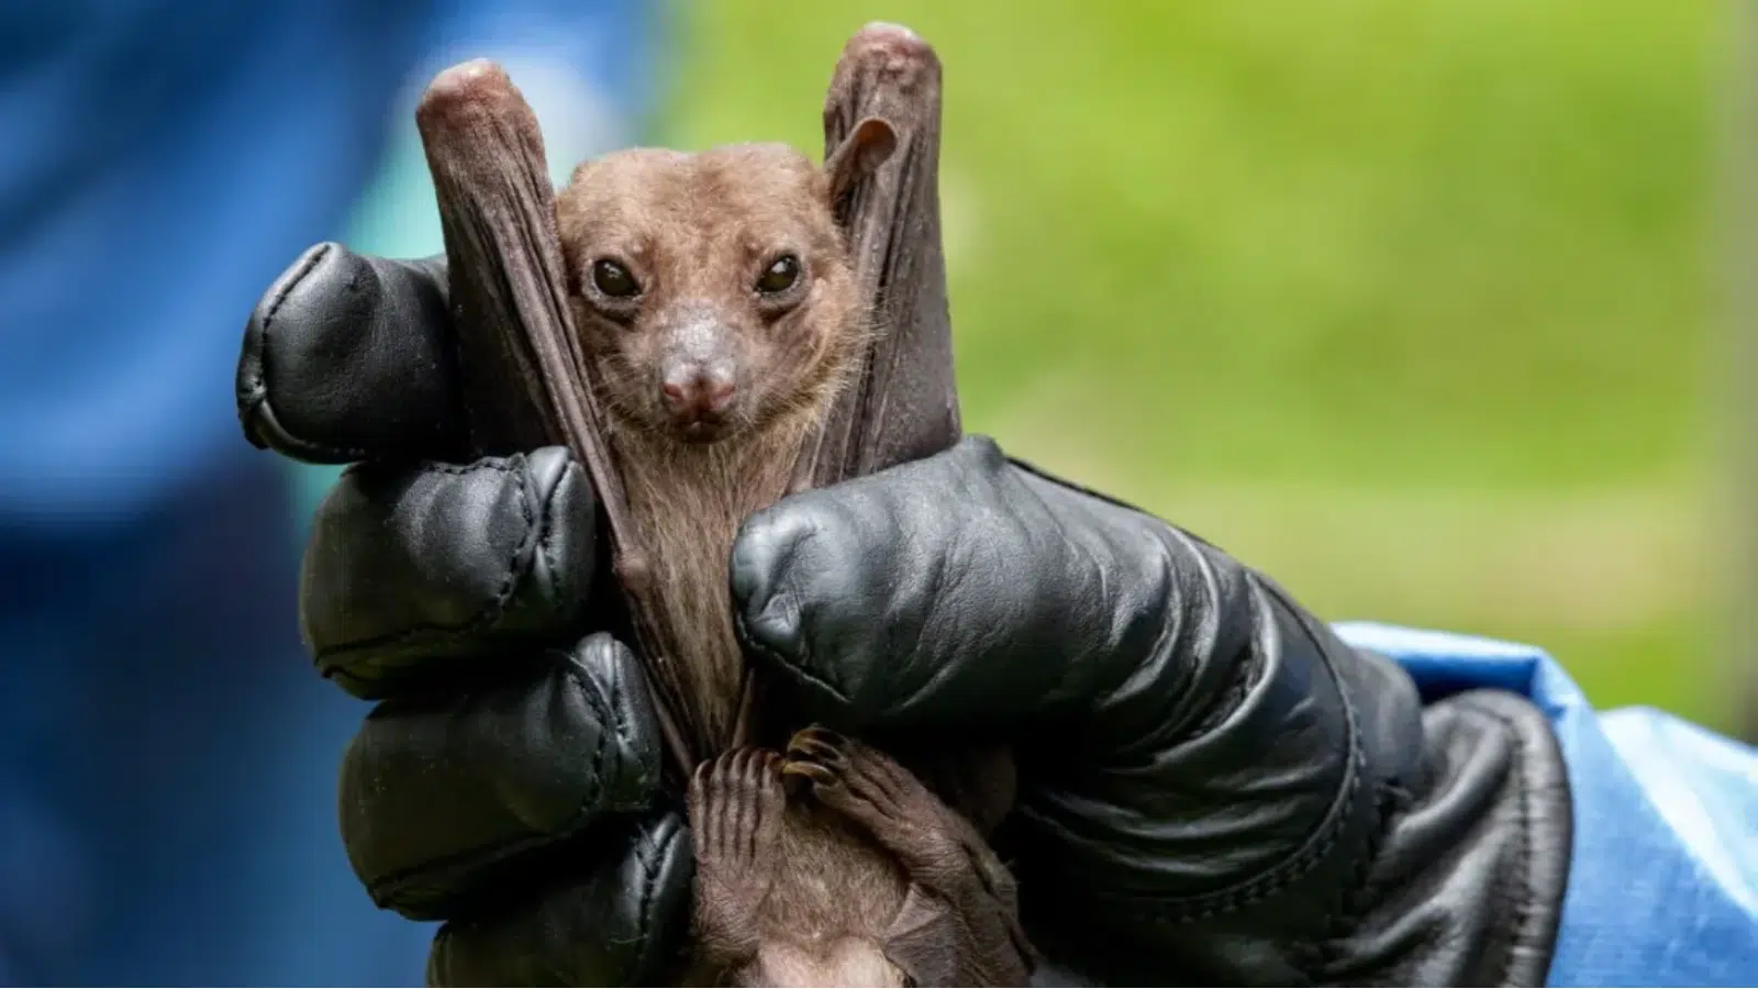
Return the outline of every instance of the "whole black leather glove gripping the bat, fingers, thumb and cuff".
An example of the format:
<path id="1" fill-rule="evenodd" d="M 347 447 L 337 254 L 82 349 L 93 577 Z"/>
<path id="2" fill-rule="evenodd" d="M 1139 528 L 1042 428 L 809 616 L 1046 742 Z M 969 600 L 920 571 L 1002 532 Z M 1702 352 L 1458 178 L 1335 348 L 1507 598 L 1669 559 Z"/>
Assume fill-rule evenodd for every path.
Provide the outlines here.
<path id="1" fill-rule="evenodd" d="M 320 667 L 387 697 L 343 771 L 348 852 L 381 905 L 450 920 L 438 982 L 663 978 L 687 832 L 599 632 L 591 493 L 561 451 L 432 463 L 466 449 L 440 275 L 315 248 L 239 370 L 253 442 L 389 461 L 325 502 L 302 595 Z M 731 565 L 749 653 L 826 718 L 1014 741 L 997 845 L 1058 968 L 1544 980 L 1568 802 L 1524 700 L 1424 707 L 1227 554 L 981 438 L 759 512 Z"/>

